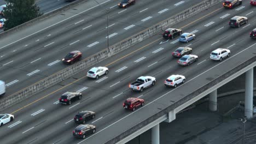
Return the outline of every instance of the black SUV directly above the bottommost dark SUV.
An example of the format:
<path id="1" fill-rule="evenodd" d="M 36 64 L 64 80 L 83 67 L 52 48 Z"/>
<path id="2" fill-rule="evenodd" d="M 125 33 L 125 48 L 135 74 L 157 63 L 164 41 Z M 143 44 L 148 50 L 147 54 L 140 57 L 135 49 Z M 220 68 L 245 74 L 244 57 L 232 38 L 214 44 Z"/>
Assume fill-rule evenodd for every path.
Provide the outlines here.
<path id="1" fill-rule="evenodd" d="M 85 124 L 86 121 L 95 118 L 95 112 L 92 111 L 80 111 L 75 115 L 74 122 L 75 123 L 83 123 Z"/>

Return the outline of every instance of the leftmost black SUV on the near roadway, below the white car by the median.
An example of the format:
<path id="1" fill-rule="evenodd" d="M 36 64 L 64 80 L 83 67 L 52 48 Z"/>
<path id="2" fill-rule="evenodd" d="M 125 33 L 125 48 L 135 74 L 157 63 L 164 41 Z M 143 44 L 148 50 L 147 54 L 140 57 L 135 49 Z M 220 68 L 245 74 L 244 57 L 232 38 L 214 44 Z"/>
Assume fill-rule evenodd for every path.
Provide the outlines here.
<path id="1" fill-rule="evenodd" d="M 71 105 L 72 101 L 82 99 L 82 93 L 79 92 L 66 92 L 63 93 L 59 99 L 60 104 Z"/>

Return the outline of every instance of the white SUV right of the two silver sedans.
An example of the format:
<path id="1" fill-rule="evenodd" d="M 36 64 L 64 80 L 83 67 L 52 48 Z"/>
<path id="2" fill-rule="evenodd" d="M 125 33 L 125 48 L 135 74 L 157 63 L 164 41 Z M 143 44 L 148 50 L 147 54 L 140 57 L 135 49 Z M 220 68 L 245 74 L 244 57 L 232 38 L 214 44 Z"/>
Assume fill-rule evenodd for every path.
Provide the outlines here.
<path id="1" fill-rule="evenodd" d="M 223 58 L 230 56 L 230 50 L 228 49 L 216 49 L 212 51 L 210 58 L 213 60 L 222 61 Z"/>

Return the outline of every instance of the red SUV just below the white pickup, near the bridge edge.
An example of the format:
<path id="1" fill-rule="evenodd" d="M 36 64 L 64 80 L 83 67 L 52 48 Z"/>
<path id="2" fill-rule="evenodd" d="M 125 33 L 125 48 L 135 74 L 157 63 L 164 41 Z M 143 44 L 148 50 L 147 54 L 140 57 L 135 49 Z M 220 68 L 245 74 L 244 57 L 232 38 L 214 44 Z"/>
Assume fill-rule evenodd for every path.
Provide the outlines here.
<path id="1" fill-rule="evenodd" d="M 132 111 L 135 111 L 135 109 L 139 106 L 144 105 L 144 99 L 139 98 L 128 98 L 125 100 L 123 106 L 124 109 L 130 109 Z"/>

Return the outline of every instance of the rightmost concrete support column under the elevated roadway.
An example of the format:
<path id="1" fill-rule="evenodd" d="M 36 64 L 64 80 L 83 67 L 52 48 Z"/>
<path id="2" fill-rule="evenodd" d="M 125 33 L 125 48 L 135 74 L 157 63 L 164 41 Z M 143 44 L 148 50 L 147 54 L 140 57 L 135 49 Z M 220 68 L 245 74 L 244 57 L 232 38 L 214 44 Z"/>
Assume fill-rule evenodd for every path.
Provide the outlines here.
<path id="1" fill-rule="evenodd" d="M 253 68 L 246 71 L 245 116 L 247 118 L 253 117 Z"/>

